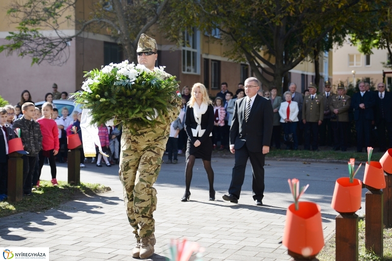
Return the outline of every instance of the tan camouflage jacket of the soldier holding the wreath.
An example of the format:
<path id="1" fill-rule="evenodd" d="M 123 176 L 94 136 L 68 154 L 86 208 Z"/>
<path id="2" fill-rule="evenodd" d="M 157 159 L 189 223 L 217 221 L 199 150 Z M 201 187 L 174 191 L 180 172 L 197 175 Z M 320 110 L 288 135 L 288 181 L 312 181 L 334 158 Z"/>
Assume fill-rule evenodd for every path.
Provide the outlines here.
<path id="1" fill-rule="evenodd" d="M 166 79 L 170 76 L 172 75 L 165 73 L 165 75 L 162 75 L 162 78 Z M 165 149 L 170 134 L 170 124 L 177 119 L 181 111 L 182 98 L 178 87 L 177 85 L 177 89 L 173 91 L 172 100 L 170 101 L 171 109 L 167 114 L 163 115 L 165 119 L 163 123 L 158 123 L 153 127 L 139 129 L 132 135 L 123 125 L 123 135 L 121 136 L 122 151 L 129 149 L 153 149 L 154 147 Z"/>

